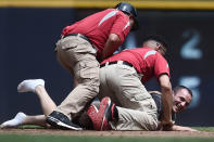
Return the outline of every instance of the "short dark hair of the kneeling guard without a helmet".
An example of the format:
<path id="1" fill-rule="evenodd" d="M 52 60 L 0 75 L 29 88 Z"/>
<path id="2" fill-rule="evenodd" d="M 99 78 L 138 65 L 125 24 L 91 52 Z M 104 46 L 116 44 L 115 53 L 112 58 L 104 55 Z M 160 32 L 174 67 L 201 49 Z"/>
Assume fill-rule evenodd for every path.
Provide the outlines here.
<path id="1" fill-rule="evenodd" d="M 150 35 L 144 38 L 143 42 L 149 41 L 149 40 L 155 40 L 155 41 L 160 42 L 163 47 L 165 47 L 165 50 L 168 48 L 168 43 L 161 35 Z"/>

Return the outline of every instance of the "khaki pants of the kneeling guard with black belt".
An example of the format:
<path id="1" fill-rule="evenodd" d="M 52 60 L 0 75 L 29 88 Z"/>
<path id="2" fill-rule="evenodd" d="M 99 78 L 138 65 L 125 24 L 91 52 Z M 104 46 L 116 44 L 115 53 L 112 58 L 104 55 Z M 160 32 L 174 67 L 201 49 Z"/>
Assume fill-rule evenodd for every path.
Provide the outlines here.
<path id="1" fill-rule="evenodd" d="M 155 130 L 158 108 L 134 67 L 117 64 L 100 68 L 99 96 L 110 96 L 118 109 L 115 130 Z"/>

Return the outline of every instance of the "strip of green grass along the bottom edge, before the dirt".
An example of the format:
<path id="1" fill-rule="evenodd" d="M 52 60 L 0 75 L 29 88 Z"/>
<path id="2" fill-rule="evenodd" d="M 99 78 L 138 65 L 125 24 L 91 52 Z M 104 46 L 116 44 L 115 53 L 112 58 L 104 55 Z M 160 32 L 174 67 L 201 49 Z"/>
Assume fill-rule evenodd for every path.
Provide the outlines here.
<path id="1" fill-rule="evenodd" d="M 67 135 L 0 135 L 1 142 L 213 142 L 213 138 L 106 138 Z"/>

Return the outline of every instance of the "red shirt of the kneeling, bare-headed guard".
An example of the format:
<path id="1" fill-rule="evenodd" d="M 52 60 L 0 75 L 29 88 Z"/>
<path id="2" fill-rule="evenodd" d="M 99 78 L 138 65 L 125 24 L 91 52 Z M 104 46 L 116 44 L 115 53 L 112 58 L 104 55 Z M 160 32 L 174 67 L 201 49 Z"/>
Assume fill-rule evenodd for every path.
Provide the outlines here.
<path id="1" fill-rule="evenodd" d="M 126 61 L 133 64 L 136 70 L 143 75 L 142 83 L 152 77 L 159 79 L 159 76 L 162 74 L 169 76 L 169 67 L 166 60 L 159 52 L 147 47 L 122 51 L 104 60 L 101 64 L 112 61 Z"/>

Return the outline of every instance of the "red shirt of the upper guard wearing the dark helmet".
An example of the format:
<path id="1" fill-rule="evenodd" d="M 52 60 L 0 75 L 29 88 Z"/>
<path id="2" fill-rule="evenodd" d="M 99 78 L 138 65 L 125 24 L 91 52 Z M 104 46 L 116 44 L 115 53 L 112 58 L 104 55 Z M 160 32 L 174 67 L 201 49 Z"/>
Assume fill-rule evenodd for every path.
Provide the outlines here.
<path id="1" fill-rule="evenodd" d="M 108 9 L 76 22 L 71 26 L 66 26 L 62 35 L 78 33 L 88 37 L 91 43 L 98 49 L 98 55 L 100 55 L 110 34 L 118 35 L 122 42 L 125 40 L 125 37 L 130 30 L 128 24 L 129 18 L 126 14 L 115 9 Z"/>

